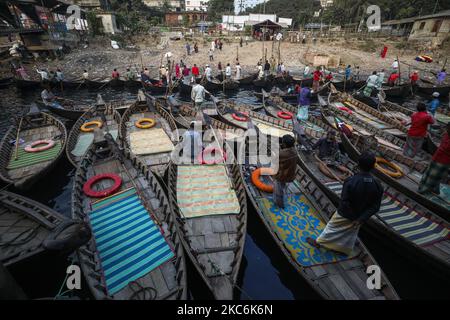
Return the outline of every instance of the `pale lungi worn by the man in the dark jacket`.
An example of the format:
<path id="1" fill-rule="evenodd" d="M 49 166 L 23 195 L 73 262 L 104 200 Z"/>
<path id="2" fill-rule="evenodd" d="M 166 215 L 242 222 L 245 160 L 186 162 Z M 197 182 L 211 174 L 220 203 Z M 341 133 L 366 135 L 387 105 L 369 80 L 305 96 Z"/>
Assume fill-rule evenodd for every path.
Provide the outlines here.
<path id="1" fill-rule="evenodd" d="M 351 255 L 359 228 L 353 226 L 353 221 L 342 217 L 336 211 L 316 241 L 326 249 Z"/>

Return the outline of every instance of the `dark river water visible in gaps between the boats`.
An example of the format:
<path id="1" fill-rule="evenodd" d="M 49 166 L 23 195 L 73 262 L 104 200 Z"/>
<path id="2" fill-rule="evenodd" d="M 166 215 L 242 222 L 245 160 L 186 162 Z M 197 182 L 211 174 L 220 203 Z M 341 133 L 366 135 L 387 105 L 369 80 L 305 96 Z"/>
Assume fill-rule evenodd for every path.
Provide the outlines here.
<path id="1" fill-rule="evenodd" d="M 87 90 L 65 92 L 72 100 L 94 102 L 99 92 Z M 100 92 L 105 101 L 114 99 L 134 99 L 136 92 L 104 89 Z M 15 87 L 0 90 L 0 135 L 10 125 L 11 118 L 24 112 L 27 106 L 39 99 L 39 90 L 20 91 Z M 220 97 L 220 95 L 219 95 Z M 241 90 L 227 98 L 241 103 L 255 104 L 251 91 Z M 415 98 L 423 100 L 423 98 Z M 67 129 L 72 125 L 66 122 Z M 75 169 L 63 159 L 45 180 L 38 182 L 32 190 L 22 193 L 58 212 L 70 216 L 70 200 Z M 319 299 L 288 263 L 272 237 L 260 221 L 251 203 L 248 203 L 248 234 L 242 261 L 239 288 L 236 296 L 240 299 Z M 392 246 L 385 245 L 372 235 L 362 233 L 361 238 L 381 266 L 398 294 L 404 299 L 450 298 L 448 284 L 420 266 L 399 255 Z M 187 259 L 188 260 L 188 259 Z M 54 297 L 60 290 L 70 257 L 46 255 L 29 259 L 11 268 L 11 273 L 30 298 Z M 188 286 L 193 299 L 211 299 L 206 286 L 188 264 Z M 75 292 L 81 299 L 92 299 L 85 283 Z"/>

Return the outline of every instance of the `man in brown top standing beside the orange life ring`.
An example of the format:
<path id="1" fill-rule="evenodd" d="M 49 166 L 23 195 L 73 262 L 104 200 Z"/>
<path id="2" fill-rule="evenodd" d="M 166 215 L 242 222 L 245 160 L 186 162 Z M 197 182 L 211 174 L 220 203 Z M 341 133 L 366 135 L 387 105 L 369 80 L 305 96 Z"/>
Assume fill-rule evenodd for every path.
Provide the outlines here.
<path id="1" fill-rule="evenodd" d="M 295 180 L 297 151 L 294 145 L 295 139 L 291 135 L 286 134 L 281 138 L 278 171 L 273 176 L 273 201 L 279 208 L 284 208 L 286 184 Z"/>

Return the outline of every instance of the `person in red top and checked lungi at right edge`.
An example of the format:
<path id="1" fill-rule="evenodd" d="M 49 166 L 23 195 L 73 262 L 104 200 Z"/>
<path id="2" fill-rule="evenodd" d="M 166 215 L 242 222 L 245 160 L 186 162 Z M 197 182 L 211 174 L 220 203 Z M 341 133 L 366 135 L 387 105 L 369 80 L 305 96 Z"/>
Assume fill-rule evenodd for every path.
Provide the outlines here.
<path id="1" fill-rule="evenodd" d="M 422 175 L 419 183 L 419 193 L 427 194 L 441 193 L 440 185 L 442 179 L 447 177 L 450 168 L 450 122 L 447 123 L 446 132 L 442 137 L 441 143 L 433 154 L 430 164 Z"/>

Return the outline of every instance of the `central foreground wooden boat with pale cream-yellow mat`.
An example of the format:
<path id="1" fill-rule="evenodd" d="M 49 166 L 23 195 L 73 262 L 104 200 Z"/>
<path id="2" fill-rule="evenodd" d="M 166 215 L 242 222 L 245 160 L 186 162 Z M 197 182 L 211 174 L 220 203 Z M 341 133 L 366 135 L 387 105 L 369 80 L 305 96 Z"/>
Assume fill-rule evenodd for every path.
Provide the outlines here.
<path id="1" fill-rule="evenodd" d="M 212 127 L 210 130 L 214 132 Z M 217 137 L 217 134 L 216 132 L 214 136 Z M 227 144 L 222 141 L 221 137 L 215 140 L 216 143 L 204 138 L 204 143 L 211 142 L 209 146 L 219 146 L 225 150 L 225 164 L 177 165 L 172 162 L 169 167 L 168 189 L 175 221 L 189 258 L 214 297 L 231 300 L 244 251 L 247 199 L 239 166 L 232 151 L 223 147 Z M 214 181 L 222 184 L 218 185 L 216 181 L 212 187 L 209 178 L 212 176 L 215 177 Z M 189 188 L 183 188 L 186 177 L 190 177 L 189 187 L 193 186 L 195 179 L 206 179 L 196 188 L 204 189 L 205 194 L 208 194 L 205 195 L 205 200 L 212 204 L 203 204 L 201 198 L 185 197 L 190 192 Z M 224 197 L 227 198 L 226 202 Z M 192 203 L 186 203 L 186 199 L 191 199 Z M 220 206 L 220 203 L 228 206 Z"/>

